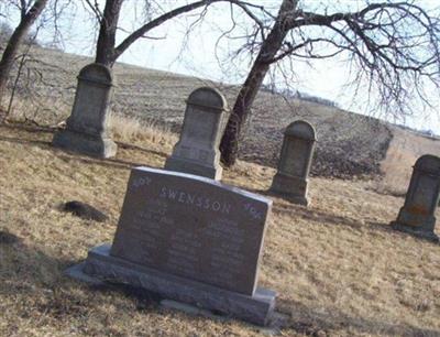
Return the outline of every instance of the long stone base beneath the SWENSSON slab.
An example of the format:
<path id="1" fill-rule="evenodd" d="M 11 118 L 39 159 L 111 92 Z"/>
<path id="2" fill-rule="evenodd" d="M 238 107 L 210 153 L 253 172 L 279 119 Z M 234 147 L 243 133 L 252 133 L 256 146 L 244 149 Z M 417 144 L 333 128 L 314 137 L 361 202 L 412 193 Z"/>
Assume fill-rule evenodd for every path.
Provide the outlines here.
<path id="1" fill-rule="evenodd" d="M 66 273 L 89 283 L 130 284 L 166 298 L 217 311 L 243 320 L 266 326 L 275 307 L 276 293 L 257 289 L 253 296 L 175 276 L 110 256 L 110 244 L 91 249 L 87 260 Z"/>

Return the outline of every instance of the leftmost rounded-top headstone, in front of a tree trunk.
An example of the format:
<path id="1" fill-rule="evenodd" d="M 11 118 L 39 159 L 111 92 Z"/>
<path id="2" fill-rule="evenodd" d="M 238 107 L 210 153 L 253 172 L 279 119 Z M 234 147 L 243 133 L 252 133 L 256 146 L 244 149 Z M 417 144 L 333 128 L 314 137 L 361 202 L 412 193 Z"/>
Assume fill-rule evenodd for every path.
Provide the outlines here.
<path id="1" fill-rule="evenodd" d="M 78 75 L 74 108 L 66 129 L 55 133 L 52 144 L 98 157 L 117 153 L 108 128 L 108 108 L 112 95 L 112 76 L 108 67 L 89 64 Z"/>

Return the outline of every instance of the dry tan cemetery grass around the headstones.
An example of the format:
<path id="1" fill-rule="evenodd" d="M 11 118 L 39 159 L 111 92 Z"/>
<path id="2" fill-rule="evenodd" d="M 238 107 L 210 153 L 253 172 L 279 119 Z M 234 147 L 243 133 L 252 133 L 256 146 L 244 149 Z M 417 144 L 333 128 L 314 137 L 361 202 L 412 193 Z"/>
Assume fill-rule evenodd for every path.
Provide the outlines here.
<path id="1" fill-rule="evenodd" d="M 53 149 L 52 130 L 0 127 L 1 336 L 265 333 L 164 308 L 152 294 L 88 287 L 63 275 L 91 247 L 112 240 L 130 167 L 163 167 L 176 139 L 151 130 L 132 135 L 136 145 L 119 143 L 117 157 L 96 160 Z M 119 131 L 117 140 L 132 140 L 129 130 Z M 411 155 L 394 149 L 400 160 Z M 392 230 L 404 203 L 398 193 L 377 193 L 376 180 L 311 177 L 305 208 L 266 192 L 274 174 L 240 162 L 223 182 L 274 200 L 260 285 L 278 293 L 280 336 L 440 335 L 440 246 Z M 109 219 L 61 210 L 75 199 Z"/>

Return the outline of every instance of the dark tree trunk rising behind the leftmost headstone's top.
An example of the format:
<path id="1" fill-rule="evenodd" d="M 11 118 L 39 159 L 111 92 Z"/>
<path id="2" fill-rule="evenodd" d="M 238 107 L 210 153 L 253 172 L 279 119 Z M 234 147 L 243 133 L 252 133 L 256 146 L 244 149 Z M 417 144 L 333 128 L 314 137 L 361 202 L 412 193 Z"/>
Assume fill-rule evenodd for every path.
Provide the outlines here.
<path id="1" fill-rule="evenodd" d="M 103 10 L 103 18 L 101 18 L 99 36 L 97 43 L 96 63 L 103 64 L 112 67 L 116 62 L 114 42 L 119 21 L 119 13 L 121 12 L 122 2 L 124 0 L 107 0 Z"/>

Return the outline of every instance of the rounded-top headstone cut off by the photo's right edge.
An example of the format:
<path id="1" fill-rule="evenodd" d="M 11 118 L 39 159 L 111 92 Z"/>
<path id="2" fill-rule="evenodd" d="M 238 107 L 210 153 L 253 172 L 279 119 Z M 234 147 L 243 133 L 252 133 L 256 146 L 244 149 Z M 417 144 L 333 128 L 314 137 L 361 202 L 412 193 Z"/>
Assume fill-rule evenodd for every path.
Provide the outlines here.
<path id="1" fill-rule="evenodd" d="M 433 231 L 439 196 L 440 157 L 422 155 L 414 165 L 404 207 L 400 208 L 397 220 L 391 225 L 394 229 L 439 242 L 439 237 Z"/>

